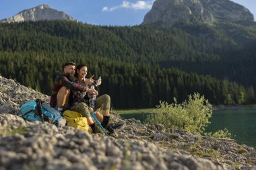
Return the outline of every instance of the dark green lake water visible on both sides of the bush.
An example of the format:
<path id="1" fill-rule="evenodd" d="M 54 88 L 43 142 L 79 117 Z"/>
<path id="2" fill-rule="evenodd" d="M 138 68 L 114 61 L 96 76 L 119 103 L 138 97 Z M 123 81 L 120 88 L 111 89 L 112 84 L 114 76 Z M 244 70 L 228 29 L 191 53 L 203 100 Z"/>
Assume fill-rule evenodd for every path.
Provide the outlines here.
<path id="1" fill-rule="evenodd" d="M 123 118 L 135 118 L 143 122 L 148 114 L 121 114 Z M 214 111 L 207 132 L 227 128 L 232 138 L 239 144 L 256 148 L 256 110 L 218 110 Z"/>

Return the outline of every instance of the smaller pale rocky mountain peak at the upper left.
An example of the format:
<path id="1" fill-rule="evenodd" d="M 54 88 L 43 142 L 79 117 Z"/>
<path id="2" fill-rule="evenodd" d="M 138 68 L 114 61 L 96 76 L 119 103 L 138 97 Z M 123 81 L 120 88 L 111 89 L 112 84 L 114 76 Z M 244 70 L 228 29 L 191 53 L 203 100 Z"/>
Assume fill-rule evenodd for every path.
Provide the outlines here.
<path id="1" fill-rule="evenodd" d="M 0 22 L 24 22 L 24 21 L 33 21 L 38 20 L 68 20 L 74 21 L 73 17 L 67 15 L 63 11 L 57 11 L 49 7 L 49 5 L 39 5 L 31 9 L 26 9 L 21 11 L 13 17 L 2 19 Z"/>

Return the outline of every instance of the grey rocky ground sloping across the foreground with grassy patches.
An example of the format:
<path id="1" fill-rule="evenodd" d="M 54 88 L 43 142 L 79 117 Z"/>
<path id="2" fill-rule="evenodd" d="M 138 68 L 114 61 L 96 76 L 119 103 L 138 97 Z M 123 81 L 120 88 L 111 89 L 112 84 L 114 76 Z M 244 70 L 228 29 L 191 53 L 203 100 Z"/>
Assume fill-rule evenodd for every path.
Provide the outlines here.
<path id="1" fill-rule="evenodd" d="M 181 130 L 125 121 L 118 134 L 88 134 L 27 122 L 21 104 L 49 96 L 0 76 L 0 170 L 5 169 L 256 169 L 255 148 Z"/>

